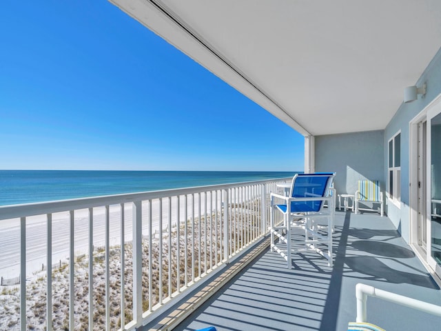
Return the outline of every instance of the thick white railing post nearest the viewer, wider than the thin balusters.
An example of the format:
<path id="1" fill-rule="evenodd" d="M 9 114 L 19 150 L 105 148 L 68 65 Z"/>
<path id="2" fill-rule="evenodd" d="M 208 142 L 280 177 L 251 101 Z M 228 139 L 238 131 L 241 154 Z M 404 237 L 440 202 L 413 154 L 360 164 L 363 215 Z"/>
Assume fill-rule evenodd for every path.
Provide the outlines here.
<path id="1" fill-rule="evenodd" d="M 143 324 L 143 217 L 142 202 L 133 202 L 133 320 L 136 328 Z"/>

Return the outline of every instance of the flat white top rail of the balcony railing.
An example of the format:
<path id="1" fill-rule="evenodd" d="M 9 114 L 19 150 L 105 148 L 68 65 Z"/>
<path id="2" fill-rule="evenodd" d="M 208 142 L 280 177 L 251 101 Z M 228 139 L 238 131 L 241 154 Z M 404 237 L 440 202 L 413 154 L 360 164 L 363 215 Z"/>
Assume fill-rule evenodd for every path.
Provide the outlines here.
<path id="1" fill-rule="evenodd" d="M 65 212 L 68 210 L 81 210 L 86 208 L 102 207 L 103 205 L 116 205 L 119 203 L 131 203 L 134 201 L 161 199 L 165 197 L 177 197 L 198 192 L 227 190 L 229 188 L 236 188 L 244 185 L 273 183 L 275 181 L 286 181 L 287 179 L 291 179 L 291 177 L 266 179 L 263 181 L 246 181 L 240 183 L 195 186 L 192 188 L 177 188 L 170 190 L 112 194 L 101 197 L 23 203 L 19 205 L 0 205 L 0 221 L 3 219 L 17 219 L 19 217 L 30 217 L 41 214 L 50 214 L 54 212 Z"/>

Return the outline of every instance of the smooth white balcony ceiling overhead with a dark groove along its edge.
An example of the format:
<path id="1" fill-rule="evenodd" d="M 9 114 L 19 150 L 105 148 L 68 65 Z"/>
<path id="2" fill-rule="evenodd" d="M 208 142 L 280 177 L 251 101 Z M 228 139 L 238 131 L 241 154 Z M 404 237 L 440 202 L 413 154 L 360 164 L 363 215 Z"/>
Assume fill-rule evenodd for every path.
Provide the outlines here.
<path id="1" fill-rule="evenodd" d="M 384 129 L 441 46 L 441 0 L 110 1 L 305 135 Z"/>

